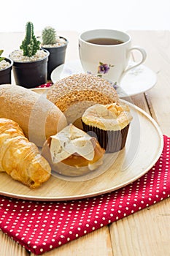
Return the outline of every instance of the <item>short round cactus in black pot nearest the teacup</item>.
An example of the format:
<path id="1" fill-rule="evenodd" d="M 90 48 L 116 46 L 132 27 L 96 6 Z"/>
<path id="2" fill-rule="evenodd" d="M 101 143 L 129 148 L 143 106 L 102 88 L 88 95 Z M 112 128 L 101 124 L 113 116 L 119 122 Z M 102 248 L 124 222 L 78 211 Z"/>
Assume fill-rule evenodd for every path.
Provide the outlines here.
<path id="1" fill-rule="evenodd" d="M 64 37 L 59 37 L 53 27 L 46 26 L 45 29 L 42 30 L 42 49 L 46 49 L 50 52 L 47 64 L 48 80 L 50 80 L 53 69 L 65 62 L 67 45 L 68 40 Z"/>

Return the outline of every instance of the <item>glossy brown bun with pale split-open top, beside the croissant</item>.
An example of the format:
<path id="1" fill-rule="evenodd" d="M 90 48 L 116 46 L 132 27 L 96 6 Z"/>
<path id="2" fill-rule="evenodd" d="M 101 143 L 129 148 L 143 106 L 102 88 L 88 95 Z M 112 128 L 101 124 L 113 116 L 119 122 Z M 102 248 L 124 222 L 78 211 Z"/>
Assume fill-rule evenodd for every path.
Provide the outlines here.
<path id="1" fill-rule="evenodd" d="M 52 170 L 63 176 L 82 176 L 96 170 L 104 152 L 96 138 L 73 124 L 48 138 L 42 147 L 42 156 Z"/>

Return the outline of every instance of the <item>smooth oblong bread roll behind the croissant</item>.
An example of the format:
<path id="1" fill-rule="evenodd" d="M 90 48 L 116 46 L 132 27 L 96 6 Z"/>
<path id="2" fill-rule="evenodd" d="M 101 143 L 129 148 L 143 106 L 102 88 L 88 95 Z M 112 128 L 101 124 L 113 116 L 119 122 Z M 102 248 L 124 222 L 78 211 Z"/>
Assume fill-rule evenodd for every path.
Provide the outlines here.
<path id="1" fill-rule="evenodd" d="M 45 94 L 14 85 L 0 86 L 1 117 L 16 121 L 36 146 L 67 125 L 66 117 Z"/>

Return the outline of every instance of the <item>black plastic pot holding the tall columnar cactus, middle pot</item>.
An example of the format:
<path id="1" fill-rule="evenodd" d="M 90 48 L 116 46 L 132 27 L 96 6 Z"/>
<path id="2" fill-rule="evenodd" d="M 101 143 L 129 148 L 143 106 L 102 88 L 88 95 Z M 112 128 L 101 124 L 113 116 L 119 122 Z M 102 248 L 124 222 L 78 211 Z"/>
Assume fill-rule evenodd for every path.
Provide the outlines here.
<path id="1" fill-rule="evenodd" d="M 47 52 L 47 56 L 37 61 L 14 61 L 13 73 L 15 83 L 18 86 L 31 89 L 47 83 L 47 61 L 50 53 L 47 50 L 45 51 Z"/>

